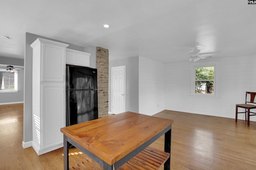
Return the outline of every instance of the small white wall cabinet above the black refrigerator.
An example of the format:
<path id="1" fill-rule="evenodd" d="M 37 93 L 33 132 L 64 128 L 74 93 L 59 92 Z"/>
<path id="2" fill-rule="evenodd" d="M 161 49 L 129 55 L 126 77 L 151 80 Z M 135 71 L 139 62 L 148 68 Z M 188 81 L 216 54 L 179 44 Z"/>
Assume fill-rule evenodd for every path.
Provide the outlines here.
<path id="1" fill-rule="evenodd" d="M 66 64 L 90 67 L 90 53 L 66 49 Z"/>

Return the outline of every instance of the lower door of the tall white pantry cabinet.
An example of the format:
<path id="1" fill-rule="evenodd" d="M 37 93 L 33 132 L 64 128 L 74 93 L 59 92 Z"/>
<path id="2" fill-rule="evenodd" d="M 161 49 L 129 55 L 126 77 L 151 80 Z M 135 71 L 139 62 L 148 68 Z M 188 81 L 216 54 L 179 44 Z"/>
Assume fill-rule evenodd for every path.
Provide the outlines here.
<path id="1" fill-rule="evenodd" d="M 65 119 L 65 86 L 43 84 L 42 92 L 42 148 L 49 148 L 63 143 L 63 135 L 59 132 L 60 127 L 65 127 L 61 121 Z"/>

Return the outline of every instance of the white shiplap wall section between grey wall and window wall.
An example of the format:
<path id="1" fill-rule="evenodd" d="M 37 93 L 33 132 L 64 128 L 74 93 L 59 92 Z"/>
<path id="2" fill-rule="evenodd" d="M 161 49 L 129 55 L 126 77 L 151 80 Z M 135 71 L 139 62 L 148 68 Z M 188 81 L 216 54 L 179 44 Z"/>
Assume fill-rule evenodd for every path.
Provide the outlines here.
<path id="1" fill-rule="evenodd" d="M 165 64 L 139 56 L 139 113 L 165 109 Z"/>

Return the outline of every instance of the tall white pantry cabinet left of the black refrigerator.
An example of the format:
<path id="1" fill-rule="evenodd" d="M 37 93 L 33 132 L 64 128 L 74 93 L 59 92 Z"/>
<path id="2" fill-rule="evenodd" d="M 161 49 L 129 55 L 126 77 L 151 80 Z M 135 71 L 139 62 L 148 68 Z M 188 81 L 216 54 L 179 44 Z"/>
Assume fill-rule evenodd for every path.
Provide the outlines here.
<path id="1" fill-rule="evenodd" d="M 63 147 L 67 44 L 38 38 L 31 44 L 32 146 L 37 154 Z"/>

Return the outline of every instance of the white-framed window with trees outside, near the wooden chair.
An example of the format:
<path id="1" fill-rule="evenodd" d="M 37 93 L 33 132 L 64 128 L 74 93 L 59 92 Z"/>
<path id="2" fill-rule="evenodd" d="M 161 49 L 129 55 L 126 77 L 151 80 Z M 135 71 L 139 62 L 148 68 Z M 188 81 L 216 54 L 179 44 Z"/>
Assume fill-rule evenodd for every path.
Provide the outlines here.
<path id="1" fill-rule="evenodd" d="M 191 95 L 218 96 L 218 62 L 198 62 L 191 65 Z"/>

